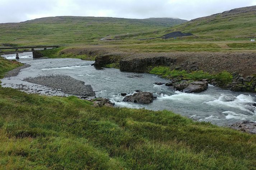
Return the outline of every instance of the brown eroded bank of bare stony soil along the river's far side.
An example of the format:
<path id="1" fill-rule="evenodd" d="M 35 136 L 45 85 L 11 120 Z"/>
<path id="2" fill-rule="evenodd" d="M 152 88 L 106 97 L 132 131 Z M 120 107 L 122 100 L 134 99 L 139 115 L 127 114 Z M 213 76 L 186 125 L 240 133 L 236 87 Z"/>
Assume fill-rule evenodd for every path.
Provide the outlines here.
<path id="1" fill-rule="evenodd" d="M 127 72 L 149 72 L 157 66 L 177 71 L 203 71 L 209 74 L 230 73 L 228 83 L 213 84 L 233 91 L 256 92 L 256 53 L 253 52 L 124 52 L 112 48 L 69 48 L 61 54 L 88 55 L 95 66 L 115 67 Z M 181 78 L 182 79 L 182 78 Z M 210 80 L 211 81 L 211 80 Z"/>

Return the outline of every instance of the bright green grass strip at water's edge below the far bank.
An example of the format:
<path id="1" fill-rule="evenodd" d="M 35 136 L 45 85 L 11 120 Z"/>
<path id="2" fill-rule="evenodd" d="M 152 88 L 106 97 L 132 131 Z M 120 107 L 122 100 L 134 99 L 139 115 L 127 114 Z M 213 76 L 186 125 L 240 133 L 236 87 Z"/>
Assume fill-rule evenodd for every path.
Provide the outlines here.
<path id="1" fill-rule="evenodd" d="M 185 70 L 171 70 L 166 66 L 154 67 L 149 71 L 149 73 L 157 74 L 165 78 L 181 78 L 194 81 L 200 81 L 201 79 L 216 79 L 216 81 L 219 81 L 222 85 L 231 83 L 233 78 L 231 73 L 226 71 L 220 72 L 218 74 L 210 74 L 203 71 L 193 71 L 189 73 Z"/>

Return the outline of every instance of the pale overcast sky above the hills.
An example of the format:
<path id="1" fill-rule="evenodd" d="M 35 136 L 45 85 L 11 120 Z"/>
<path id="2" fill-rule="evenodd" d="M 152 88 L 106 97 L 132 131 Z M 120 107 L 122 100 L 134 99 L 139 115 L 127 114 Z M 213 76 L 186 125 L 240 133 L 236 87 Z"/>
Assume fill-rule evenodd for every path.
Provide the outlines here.
<path id="1" fill-rule="evenodd" d="M 191 20 L 252 5 L 256 0 L 0 0 L 0 23 L 68 15 Z"/>

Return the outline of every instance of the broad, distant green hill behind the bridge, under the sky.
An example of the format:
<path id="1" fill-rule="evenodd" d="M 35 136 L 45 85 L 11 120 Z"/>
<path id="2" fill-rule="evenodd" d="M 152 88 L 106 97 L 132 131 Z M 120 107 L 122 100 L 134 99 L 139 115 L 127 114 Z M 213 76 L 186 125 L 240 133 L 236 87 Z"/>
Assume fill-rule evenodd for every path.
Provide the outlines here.
<path id="1" fill-rule="evenodd" d="M 0 24 L 0 44 L 92 44 L 107 35 L 153 31 L 185 21 L 173 18 L 47 17 Z"/>

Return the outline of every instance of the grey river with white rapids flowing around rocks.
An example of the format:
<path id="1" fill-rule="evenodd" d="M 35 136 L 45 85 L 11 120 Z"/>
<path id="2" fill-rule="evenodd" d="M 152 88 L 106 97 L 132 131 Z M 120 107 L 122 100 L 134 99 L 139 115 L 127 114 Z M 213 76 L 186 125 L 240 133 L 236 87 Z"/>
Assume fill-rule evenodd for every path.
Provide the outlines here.
<path id="1" fill-rule="evenodd" d="M 14 59 L 15 55 L 3 56 Z M 18 76 L 2 79 L 3 87 L 21 88 L 23 91 L 47 95 L 65 94 L 57 89 L 23 81 L 28 77 L 66 75 L 90 84 L 97 97 L 110 98 L 119 107 L 170 110 L 198 121 L 210 121 L 220 126 L 241 120 L 256 122 L 256 93 L 232 92 L 209 85 L 201 93 L 174 92 L 155 82 L 169 82 L 153 74 L 120 72 L 114 68 L 96 68 L 93 61 L 80 59 L 33 59 L 32 53 L 20 54 L 20 62 L 30 64 Z M 153 92 L 157 97 L 148 105 L 122 102 L 121 93 L 132 94 L 135 90 Z"/>

